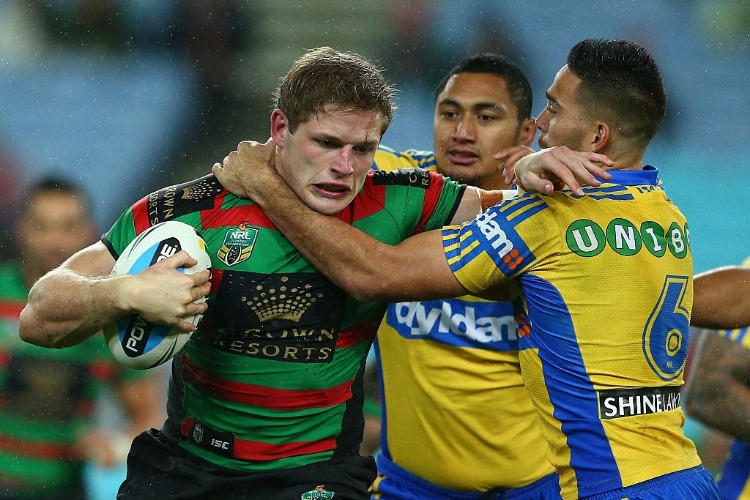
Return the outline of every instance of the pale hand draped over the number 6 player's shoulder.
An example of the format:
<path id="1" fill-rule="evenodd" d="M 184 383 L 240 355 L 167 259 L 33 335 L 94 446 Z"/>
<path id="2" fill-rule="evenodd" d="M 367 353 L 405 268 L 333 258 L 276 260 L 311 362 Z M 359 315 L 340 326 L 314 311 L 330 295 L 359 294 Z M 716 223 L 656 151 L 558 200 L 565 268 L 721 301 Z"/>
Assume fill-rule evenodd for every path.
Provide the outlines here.
<path id="1" fill-rule="evenodd" d="M 605 155 L 555 146 L 519 159 L 515 173 L 516 181 L 525 191 L 549 194 L 567 185 L 582 196 L 582 184 L 598 186 L 601 183 L 596 177 L 612 178 L 604 167 L 614 167 L 614 162 Z"/>

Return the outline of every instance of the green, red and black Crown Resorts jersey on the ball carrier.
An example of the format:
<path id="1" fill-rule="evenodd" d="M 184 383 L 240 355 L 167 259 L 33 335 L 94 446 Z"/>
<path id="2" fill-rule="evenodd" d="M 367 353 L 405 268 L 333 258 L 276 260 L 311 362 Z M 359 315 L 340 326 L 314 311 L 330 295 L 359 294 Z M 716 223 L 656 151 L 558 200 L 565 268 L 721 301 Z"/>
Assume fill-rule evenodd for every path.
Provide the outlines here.
<path id="1" fill-rule="evenodd" d="M 371 172 L 339 215 L 398 243 L 449 221 L 463 187 L 424 171 Z M 213 176 L 146 196 L 104 241 L 119 253 L 164 220 L 193 226 L 211 257 L 208 310 L 176 358 L 165 433 L 245 471 L 356 454 L 361 371 L 383 307 L 359 303 L 321 275 L 260 207 Z"/>

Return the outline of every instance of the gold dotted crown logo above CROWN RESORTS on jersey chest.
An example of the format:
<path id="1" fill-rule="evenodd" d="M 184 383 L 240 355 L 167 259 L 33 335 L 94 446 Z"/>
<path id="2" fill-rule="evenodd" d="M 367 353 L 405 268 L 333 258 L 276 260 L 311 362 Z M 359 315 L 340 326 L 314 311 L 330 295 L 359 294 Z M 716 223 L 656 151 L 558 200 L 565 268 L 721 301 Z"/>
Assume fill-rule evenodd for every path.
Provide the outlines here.
<path id="1" fill-rule="evenodd" d="M 242 301 L 253 310 L 261 323 L 272 319 L 286 319 L 297 323 L 323 294 L 311 292 L 313 286 L 310 283 L 289 287 L 284 285 L 288 281 L 288 276 L 282 276 L 281 285 L 266 288 L 259 284 L 255 287 L 255 295 L 242 297 Z"/>

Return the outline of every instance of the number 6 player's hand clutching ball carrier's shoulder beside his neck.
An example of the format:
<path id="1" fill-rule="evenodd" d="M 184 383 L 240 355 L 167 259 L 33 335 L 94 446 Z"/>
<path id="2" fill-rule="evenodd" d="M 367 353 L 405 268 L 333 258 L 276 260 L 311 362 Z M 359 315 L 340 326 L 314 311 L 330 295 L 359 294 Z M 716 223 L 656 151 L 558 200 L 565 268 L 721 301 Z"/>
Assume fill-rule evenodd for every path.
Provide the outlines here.
<path id="1" fill-rule="evenodd" d="M 269 187 L 275 175 L 276 146 L 268 139 L 265 144 L 243 141 L 237 150 L 229 153 L 223 163 L 211 169 L 216 178 L 230 193 L 240 198 L 256 198 Z"/>

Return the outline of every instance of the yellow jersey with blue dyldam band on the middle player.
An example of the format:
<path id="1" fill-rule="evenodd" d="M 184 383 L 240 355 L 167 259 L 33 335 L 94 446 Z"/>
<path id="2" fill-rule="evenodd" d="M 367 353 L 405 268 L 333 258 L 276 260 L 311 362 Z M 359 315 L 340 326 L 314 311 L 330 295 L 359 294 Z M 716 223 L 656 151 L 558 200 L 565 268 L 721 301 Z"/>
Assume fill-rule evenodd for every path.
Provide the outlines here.
<path id="1" fill-rule="evenodd" d="M 382 147 L 375 155 L 374 168 L 408 166 L 434 170 L 435 155 Z M 376 342 L 391 462 L 456 491 L 518 488 L 554 472 L 523 387 L 510 303 L 391 304 Z"/>

